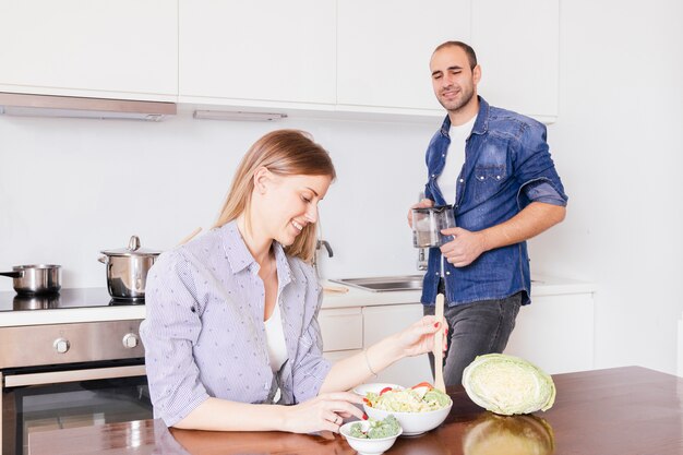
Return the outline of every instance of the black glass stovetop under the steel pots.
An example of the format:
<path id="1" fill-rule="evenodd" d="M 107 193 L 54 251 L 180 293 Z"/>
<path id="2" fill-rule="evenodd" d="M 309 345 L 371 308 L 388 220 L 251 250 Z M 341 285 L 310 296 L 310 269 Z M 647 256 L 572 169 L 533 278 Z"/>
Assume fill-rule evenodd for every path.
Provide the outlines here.
<path id="1" fill-rule="evenodd" d="M 67 288 L 61 289 L 59 294 L 43 296 L 24 296 L 14 291 L 0 292 L 0 312 L 119 307 L 144 303 L 144 300 L 112 299 L 107 288 Z"/>

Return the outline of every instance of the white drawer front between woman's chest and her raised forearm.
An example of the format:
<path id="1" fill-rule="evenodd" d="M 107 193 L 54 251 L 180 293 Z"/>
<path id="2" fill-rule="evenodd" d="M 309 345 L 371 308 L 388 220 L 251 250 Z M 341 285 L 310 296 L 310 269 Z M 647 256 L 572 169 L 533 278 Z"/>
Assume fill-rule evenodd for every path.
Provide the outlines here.
<path id="1" fill-rule="evenodd" d="M 323 350 L 362 349 L 363 314 L 360 308 L 322 309 L 317 322 L 323 335 Z"/>

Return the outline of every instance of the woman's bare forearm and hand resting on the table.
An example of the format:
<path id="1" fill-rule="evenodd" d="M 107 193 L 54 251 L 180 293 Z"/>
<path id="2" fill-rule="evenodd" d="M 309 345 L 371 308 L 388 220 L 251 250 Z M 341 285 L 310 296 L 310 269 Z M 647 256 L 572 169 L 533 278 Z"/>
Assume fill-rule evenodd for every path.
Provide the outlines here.
<path id="1" fill-rule="evenodd" d="M 319 395 L 295 406 L 252 405 L 211 397 L 173 427 L 209 431 L 339 431 L 342 418 L 364 418 L 354 403 L 360 405 L 362 398 L 348 392 Z"/>

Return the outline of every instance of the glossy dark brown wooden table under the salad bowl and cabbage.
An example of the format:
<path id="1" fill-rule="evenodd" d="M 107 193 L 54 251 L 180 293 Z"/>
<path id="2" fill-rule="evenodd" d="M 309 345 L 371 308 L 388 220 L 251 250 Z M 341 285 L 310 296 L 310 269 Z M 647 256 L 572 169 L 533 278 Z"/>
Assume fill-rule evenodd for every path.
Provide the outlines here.
<path id="1" fill-rule="evenodd" d="M 453 408 L 438 429 L 399 438 L 395 455 L 682 455 L 683 379 L 639 367 L 553 376 L 552 409 L 500 417 L 453 387 Z M 31 455 L 336 454 L 356 452 L 339 434 L 168 430 L 159 420 L 29 435 Z"/>

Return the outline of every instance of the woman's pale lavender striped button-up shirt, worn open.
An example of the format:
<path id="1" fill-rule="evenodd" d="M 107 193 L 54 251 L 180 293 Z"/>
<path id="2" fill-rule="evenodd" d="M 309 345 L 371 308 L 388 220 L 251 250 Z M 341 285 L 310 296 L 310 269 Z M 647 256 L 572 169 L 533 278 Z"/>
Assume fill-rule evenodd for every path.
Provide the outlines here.
<path id="1" fill-rule="evenodd" d="M 147 276 L 140 334 L 154 415 L 172 426 L 209 396 L 281 404 L 317 395 L 331 364 L 322 357 L 313 268 L 275 242 L 287 354 L 276 378 L 263 323 L 259 264 L 235 221 L 159 255 Z"/>

